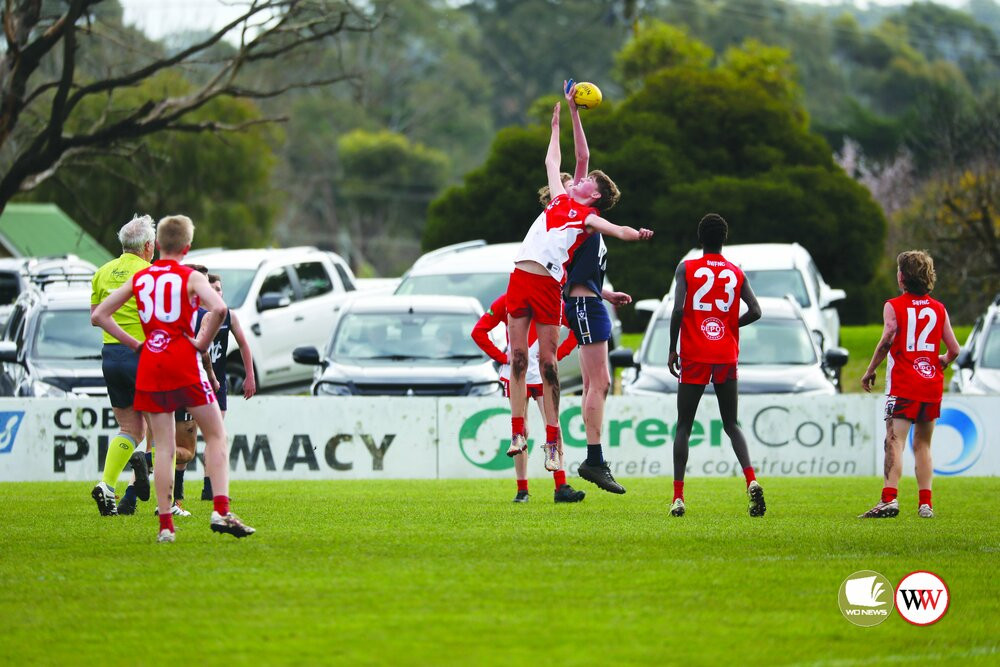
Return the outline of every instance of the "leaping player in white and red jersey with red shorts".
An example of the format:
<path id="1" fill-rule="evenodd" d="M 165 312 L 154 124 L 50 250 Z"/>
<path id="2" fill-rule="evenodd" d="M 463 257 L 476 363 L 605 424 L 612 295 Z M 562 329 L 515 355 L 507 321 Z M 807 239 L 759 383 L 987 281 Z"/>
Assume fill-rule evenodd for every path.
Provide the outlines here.
<path id="1" fill-rule="evenodd" d="M 601 171 L 592 171 L 574 182 L 567 193 L 560 175 L 559 110 L 552 109 L 552 132 L 545 155 L 552 201 L 531 225 L 514 258 L 514 271 L 507 285 L 508 334 L 511 348 L 511 446 L 508 455 L 515 456 L 527 449 L 524 417 L 527 411 L 528 329 L 535 323 L 538 333 L 538 361 L 542 373 L 545 407 L 545 469 L 559 467 L 562 437 L 559 433 L 559 368 L 556 347 L 562 324 L 562 285 L 566 267 L 593 232 L 601 232 L 624 241 L 652 238 L 648 229 L 633 229 L 615 225 L 598 212 L 611 208 L 618 200 L 618 188 Z M 579 113 L 570 109 L 574 128 L 579 125 Z M 574 137 L 576 137 L 574 132 Z M 606 470 L 611 478 L 610 470 Z M 613 478 L 611 478 L 613 479 Z"/>

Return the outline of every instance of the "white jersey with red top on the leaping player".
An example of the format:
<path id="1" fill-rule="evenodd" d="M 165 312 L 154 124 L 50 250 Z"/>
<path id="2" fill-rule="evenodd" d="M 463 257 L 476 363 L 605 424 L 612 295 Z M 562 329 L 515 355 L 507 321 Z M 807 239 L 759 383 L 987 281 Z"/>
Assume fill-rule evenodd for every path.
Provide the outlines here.
<path id="1" fill-rule="evenodd" d="M 562 285 L 577 248 L 590 236 L 585 223 L 591 213 L 596 215 L 597 209 L 559 195 L 535 218 L 514 261 L 538 262 Z"/>

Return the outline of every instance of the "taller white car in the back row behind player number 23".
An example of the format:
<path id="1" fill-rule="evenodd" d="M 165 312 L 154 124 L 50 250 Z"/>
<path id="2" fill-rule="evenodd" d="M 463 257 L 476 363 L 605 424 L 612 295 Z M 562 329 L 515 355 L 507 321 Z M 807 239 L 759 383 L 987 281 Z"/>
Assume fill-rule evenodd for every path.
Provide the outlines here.
<path id="1" fill-rule="evenodd" d="M 701 254 L 700 249 L 693 249 L 683 259 L 695 259 Z M 840 345 L 840 315 L 833 304 L 847 294 L 826 284 L 808 250 L 798 243 L 748 243 L 727 245 L 722 254 L 743 269 L 758 297 L 783 298 L 791 294 L 821 350 Z M 672 281 L 668 295 L 673 293 Z"/>

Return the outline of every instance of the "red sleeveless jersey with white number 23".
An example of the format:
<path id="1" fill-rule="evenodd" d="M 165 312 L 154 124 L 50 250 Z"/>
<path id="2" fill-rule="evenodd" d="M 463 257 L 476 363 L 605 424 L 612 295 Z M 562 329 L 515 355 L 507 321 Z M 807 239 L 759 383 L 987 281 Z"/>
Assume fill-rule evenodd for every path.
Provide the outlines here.
<path id="1" fill-rule="evenodd" d="M 684 262 L 687 296 L 680 356 L 705 364 L 735 364 L 740 356 L 743 271 L 722 255 Z"/>

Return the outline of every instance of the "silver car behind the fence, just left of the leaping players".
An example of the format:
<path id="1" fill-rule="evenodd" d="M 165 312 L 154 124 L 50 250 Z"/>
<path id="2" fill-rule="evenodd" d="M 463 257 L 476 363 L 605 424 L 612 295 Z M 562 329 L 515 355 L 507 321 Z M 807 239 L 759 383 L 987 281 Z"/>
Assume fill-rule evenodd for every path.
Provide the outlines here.
<path id="1" fill-rule="evenodd" d="M 499 395 L 493 361 L 469 336 L 482 313 L 470 297 L 354 298 L 322 353 L 304 346 L 293 358 L 315 368 L 316 396 Z"/>

